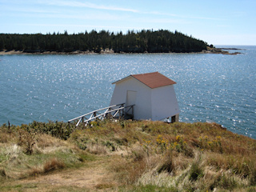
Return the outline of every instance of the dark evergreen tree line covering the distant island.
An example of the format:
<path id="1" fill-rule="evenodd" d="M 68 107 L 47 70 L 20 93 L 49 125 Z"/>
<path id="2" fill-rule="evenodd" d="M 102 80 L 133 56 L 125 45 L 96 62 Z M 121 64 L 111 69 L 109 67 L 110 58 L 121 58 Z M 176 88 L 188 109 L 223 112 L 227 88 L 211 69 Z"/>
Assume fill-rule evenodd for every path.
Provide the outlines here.
<path id="1" fill-rule="evenodd" d="M 0 50 L 72 52 L 112 49 L 115 53 L 186 53 L 206 50 L 207 43 L 177 30 L 128 30 L 126 34 L 91 30 L 79 34 L 0 34 Z"/>

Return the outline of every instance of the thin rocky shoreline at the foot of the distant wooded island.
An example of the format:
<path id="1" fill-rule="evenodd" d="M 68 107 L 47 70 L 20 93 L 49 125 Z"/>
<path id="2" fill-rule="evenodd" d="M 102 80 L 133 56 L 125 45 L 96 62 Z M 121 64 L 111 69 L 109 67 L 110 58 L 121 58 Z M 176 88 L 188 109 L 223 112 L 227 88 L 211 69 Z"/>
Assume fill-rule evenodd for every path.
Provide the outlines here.
<path id="1" fill-rule="evenodd" d="M 241 54 L 240 52 L 234 52 L 230 53 L 227 50 L 241 50 L 238 48 L 210 48 L 207 47 L 207 50 L 202 50 L 201 52 L 189 52 L 186 54 L 231 54 L 231 55 L 236 55 L 236 54 Z M 120 53 L 115 53 L 114 50 L 106 49 L 106 50 L 101 50 L 100 52 L 96 53 L 94 51 L 86 50 L 75 50 L 75 51 L 70 51 L 70 52 L 64 52 L 64 51 L 38 51 L 38 50 L 1 50 L 0 55 L 12 55 L 12 54 L 58 54 L 58 55 L 66 55 L 66 54 L 134 54 L 134 53 L 126 53 L 126 52 L 120 52 Z M 169 52 L 169 53 L 135 53 L 135 54 L 179 54 L 177 52 Z M 180 52 L 180 54 L 184 54 L 183 52 Z"/>

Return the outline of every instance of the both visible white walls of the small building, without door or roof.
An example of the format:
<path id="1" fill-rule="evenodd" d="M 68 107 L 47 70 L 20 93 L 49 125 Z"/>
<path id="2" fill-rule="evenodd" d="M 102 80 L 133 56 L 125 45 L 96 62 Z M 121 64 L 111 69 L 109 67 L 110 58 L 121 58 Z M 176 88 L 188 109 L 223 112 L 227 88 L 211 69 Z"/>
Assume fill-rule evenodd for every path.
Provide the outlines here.
<path id="1" fill-rule="evenodd" d="M 127 90 L 137 92 L 134 119 L 155 121 L 180 113 L 173 85 L 150 89 L 132 77 L 115 84 L 110 106 L 126 103 Z"/>

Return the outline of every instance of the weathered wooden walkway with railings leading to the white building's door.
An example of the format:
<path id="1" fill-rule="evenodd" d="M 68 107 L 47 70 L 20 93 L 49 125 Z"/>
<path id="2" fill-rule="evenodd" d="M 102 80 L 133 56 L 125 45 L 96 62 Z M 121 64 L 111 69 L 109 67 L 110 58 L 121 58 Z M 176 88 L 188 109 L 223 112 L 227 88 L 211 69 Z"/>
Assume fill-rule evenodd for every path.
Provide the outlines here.
<path id="1" fill-rule="evenodd" d="M 134 105 L 125 106 L 125 103 L 108 106 L 99 110 L 94 110 L 88 114 L 83 114 L 78 118 L 72 118 L 68 122 L 76 122 L 76 126 L 83 123 L 85 126 L 96 119 L 104 120 L 106 118 L 134 118 Z"/>

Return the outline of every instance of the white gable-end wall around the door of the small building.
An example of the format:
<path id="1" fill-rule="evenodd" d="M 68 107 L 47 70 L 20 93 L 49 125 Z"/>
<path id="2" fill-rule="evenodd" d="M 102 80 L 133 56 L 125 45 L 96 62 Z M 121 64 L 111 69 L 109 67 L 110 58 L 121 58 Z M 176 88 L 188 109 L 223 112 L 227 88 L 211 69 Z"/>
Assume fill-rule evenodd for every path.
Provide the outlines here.
<path id="1" fill-rule="evenodd" d="M 134 119 L 150 119 L 151 113 L 151 89 L 130 77 L 115 84 L 110 106 L 126 102 L 127 90 L 137 91 L 134 106 Z"/>

